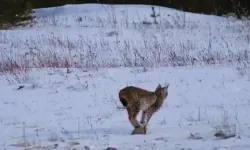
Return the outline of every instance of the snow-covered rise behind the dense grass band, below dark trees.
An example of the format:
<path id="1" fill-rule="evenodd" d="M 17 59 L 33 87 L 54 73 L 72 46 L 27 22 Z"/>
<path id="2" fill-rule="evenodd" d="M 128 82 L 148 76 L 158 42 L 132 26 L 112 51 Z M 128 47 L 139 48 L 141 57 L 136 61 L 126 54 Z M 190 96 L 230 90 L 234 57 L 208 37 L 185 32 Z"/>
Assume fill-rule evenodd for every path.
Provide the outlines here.
<path id="1" fill-rule="evenodd" d="M 195 58 L 199 64 L 212 56 L 227 63 L 250 45 L 249 21 L 163 7 L 155 7 L 155 11 L 160 14 L 157 25 L 152 24 L 151 7 L 143 5 L 38 9 L 33 14 L 37 23 L 32 27 L 1 31 L 0 45 L 5 51 L 0 56 L 31 67 L 54 55 L 60 60 L 67 58 L 72 67 L 132 67 L 142 63 L 166 67 L 172 65 L 167 59 L 177 59 L 170 57 L 174 57 L 173 52 L 180 58 Z"/>

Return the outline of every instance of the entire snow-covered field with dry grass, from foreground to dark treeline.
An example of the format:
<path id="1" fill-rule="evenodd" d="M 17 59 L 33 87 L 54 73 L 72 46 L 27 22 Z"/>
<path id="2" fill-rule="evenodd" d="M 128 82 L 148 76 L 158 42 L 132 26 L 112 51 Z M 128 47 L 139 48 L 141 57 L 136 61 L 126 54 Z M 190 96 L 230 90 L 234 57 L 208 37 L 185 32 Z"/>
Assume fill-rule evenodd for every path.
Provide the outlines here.
<path id="1" fill-rule="evenodd" d="M 250 149 L 249 21 L 144 5 L 33 15 L 0 31 L 0 149 Z M 167 82 L 148 134 L 130 135 L 119 90 Z"/>

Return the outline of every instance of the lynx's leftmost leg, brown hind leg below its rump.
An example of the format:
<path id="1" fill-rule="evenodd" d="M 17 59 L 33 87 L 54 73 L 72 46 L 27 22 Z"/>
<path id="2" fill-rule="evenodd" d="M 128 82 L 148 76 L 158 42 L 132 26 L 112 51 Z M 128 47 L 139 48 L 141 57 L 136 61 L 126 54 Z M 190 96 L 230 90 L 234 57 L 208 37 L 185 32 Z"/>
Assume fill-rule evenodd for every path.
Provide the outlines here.
<path id="1" fill-rule="evenodd" d="M 134 128 L 140 128 L 141 125 L 136 119 L 138 113 L 140 112 L 140 109 L 134 108 L 134 107 L 133 108 L 128 107 L 127 111 L 128 111 L 128 119 L 130 123 L 134 126 Z"/>

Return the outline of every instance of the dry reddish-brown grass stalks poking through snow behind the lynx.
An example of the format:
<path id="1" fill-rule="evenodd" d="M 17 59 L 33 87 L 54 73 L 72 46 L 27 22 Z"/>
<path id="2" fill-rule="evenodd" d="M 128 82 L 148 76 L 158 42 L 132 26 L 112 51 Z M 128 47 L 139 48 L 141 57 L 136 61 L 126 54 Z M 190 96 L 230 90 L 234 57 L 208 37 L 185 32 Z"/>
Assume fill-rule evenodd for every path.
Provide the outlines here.
<path id="1" fill-rule="evenodd" d="M 103 7 L 106 7 L 103 5 Z M 61 37 L 60 33 L 46 33 L 30 37 L 27 40 L 10 39 L 7 32 L 0 32 L 0 44 L 8 45 L 0 52 L 0 72 L 16 73 L 28 71 L 30 68 L 81 68 L 83 70 L 97 70 L 98 68 L 113 67 L 142 67 L 148 70 L 153 67 L 185 67 L 185 66 L 211 66 L 234 65 L 242 76 L 247 74 L 249 67 L 249 50 L 233 51 L 230 43 L 221 37 L 226 49 L 213 50 L 213 38 L 210 25 L 207 26 L 207 36 L 203 37 L 205 45 L 200 47 L 194 40 L 170 42 L 167 35 L 159 35 L 164 30 L 179 30 L 192 32 L 198 28 L 195 22 L 186 21 L 183 15 L 164 18 L 160 13 L 152 11 L 149 14 L 152 22 L 140 20 L 139 23 L 129 23 L 128 11 L 122 12 L 123 18 L 119 20 L 115 9 L 105 8 L 107 17 L 74 16 L 80 27 L 97 27 L 100 29 L 98 38 L 89 38 L 79 35 L 77 38 Z M 156 9 L 152 9 L 156 10 Z M 35 21 L 43 22 L 55 27 L 67 26 L 67 19 L 62 16 L 36 18 Z M 90 25 L 84 24 L 88 22 Z M 145 22 L 149 22 L 146 23 Z M 38 25 L 34 25 L 38 26 Z M 39 24 L 41 26 L 41 24 Z M 223 29 L 235 33 L 250 31 L 249 21 L 229 22 L 222 24 Z M 140 42 L 134 39 L 121 39 L 123 29 L 138 31 L 141 35 Z M 147 34 L 148 30 L 156 30 L 155 34 Z M 158 32 L 159 31 L 159 32 Z M 110 41 L 115 37 L 115 41 Z M 242 37 L 249 44 L 250 36 Z M 115 43 L 115 44 L 114 44 Z M 223 48 L 223 47 L 222 47 Z M 114 56 L 111 56 L 114 54 Z"/>

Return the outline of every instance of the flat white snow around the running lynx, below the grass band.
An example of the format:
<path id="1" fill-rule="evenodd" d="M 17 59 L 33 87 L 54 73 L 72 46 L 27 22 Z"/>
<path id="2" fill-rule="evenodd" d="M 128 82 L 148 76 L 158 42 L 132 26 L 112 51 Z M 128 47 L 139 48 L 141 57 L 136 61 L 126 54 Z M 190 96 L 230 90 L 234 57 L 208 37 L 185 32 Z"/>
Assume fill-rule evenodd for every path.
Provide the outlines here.
<path id="1" fill-rule="evenodd" d="M 129 68 L 97 72 L 65 69 L 31 71 L 24 83 L 1 78 L 1 141 L 7 146 L 23 140 L 35 146 L 69 142 L 102 149 L 239 149 L 250 147 L 249 87 L 231 68 L 157 68 L 134 73 Z M 77 77 L 78 76 L 78 77 Z M 147 135 L 130 135 L 132 126 L 117 93 L 127 84 L 154 90 L 170 82 L 164 106 L 149 122 Z M 19 85 L 25 85 L 17 90 Z M 138 117 L 139 118 L 139 117 Z M 238 121 L 239 123 L 238 123 Z M 25 123 L 25 125 L 23 125 Z M 241 139 L 218 140 L 215 126 L 236 126 Z M 37 130 L 37 132 L 36 132 Z M 198 133 L 203 139 L 189 139 Z M 50 142 L 55 137 L 65 140 Z M 41 142 L 41 143 L 40 143 Z M 8 149 L 14 149 L 9 147 Z"/>

